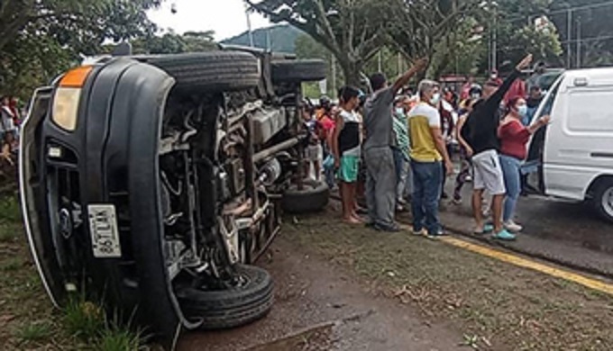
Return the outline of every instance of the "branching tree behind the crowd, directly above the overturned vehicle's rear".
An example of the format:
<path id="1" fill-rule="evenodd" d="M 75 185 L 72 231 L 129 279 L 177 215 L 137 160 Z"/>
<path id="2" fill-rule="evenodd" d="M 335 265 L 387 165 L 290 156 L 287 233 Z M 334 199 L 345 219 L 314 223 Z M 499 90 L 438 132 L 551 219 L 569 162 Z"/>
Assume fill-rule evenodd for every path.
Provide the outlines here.
<path id="1" fill-rule="evenodd" d="M 347 84 L 360 85 L 364 64 L 385 37 L 388 0 L 247 0 L 274 23 L 287 22 L 330 50 Z"/>

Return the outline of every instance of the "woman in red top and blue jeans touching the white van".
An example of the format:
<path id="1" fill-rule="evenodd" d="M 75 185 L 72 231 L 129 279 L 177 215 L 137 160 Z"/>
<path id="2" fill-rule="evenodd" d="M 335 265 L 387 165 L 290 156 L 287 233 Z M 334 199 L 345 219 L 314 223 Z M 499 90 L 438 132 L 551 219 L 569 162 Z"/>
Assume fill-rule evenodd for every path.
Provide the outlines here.
<path id="1" fill-rule="evenodd" d="M 498 135 L 500 139 L 500 166 L 504 175 L 507 196 L 505 197 L 502 220 L 508 231 L 517 233 L 522 227 L 514 220 L 517 198 L 521 192 L 520 168 L 526 158 L 526 144 L 530 136 L 549 122 L 544 116 L 529 127 L 522 120 L 526 118 L 528 106 L 526 100 L 515 97 L 508 102 L 508 113 L 500 122 Z"/>

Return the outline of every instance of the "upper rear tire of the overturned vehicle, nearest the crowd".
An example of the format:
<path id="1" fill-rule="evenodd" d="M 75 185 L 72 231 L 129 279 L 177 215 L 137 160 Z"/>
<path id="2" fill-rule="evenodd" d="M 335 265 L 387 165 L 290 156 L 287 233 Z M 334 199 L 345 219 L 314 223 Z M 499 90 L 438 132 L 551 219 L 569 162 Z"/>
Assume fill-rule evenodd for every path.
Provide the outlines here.
<path id="1" fill-rule="evenodd" d="M 325 79 L 327 69 L 321 59 L 272 61 L 270 74 L 274 83 L 315 82 Z"/>

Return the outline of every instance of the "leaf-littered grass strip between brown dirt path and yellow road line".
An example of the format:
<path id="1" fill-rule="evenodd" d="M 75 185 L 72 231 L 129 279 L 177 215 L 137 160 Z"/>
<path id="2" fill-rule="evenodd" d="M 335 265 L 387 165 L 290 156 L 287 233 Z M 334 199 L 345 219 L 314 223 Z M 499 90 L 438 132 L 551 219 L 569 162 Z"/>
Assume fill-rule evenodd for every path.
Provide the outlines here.
<path id="1" fill-rule="evenodd" d="M 310 247 L 427 318 L 453 320 L 473 347 L 613 349 L 613 298 L 416 238 L 344 225 L 330 213 L 289 218 L 284 236 Z"/>

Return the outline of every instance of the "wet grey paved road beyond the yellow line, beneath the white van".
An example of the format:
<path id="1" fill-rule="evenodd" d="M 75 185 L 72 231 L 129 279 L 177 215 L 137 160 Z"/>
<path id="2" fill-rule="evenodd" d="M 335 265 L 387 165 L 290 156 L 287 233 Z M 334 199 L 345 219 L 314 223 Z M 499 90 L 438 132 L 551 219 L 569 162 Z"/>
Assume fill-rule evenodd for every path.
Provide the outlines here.
<path id="1" fill-rule="evenodd" d="M 450 180 L 447 184 L 449 193 L 452 183 Z M 441 217 L 447 228 L 470 234 L 471 184 L 464 186 L 462 196 L 461 205 L 443 201 Z M 541 196 L 521 197 L 517 222 L 524 230 L 517 242 L 504 243 L 505 247 L 613 276 L 613 224 L 601 220 L 589 205 Z"/>

